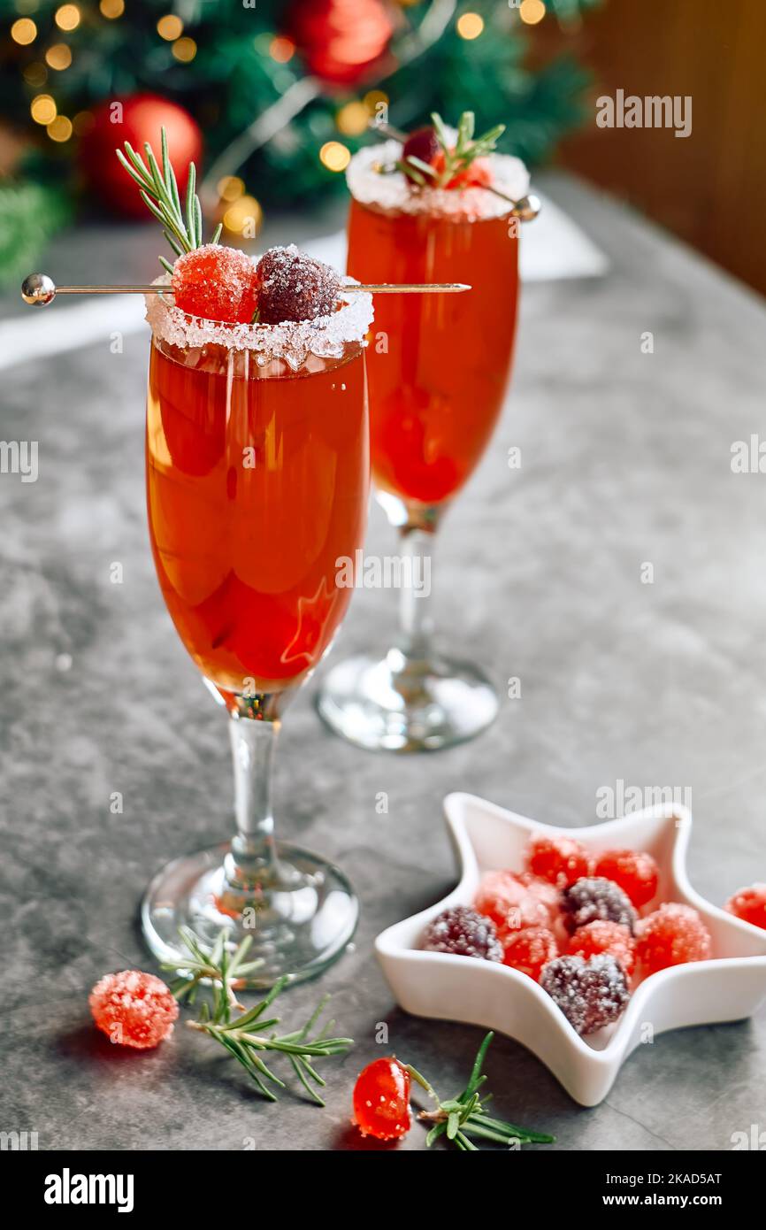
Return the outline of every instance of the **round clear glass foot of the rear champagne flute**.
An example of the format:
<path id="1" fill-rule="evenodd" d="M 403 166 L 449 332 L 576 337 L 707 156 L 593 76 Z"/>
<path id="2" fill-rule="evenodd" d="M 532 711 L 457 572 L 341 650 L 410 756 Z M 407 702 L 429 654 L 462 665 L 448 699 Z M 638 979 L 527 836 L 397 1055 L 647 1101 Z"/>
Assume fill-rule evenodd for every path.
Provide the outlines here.
<path id="1" fill-rule="evenodd" d="M 368 750 L 438 752 L 472 739 L 497 717 L 489 680 L 465 662 L 408 659 L 391 649 L 334 667 L 317 697 L 336 734 Z"/>

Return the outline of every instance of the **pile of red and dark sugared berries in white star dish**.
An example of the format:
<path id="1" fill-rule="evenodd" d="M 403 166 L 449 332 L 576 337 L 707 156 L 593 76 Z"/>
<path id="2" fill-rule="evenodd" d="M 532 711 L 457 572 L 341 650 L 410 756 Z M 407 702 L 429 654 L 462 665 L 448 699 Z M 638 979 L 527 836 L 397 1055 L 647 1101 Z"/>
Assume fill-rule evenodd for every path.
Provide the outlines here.
<path id="1" fill-rule="evenodd" d="M 594 855 L 566 834 L 540 834 L 523 871 L 488 872 L 472 908 L 440 914 L 423 947 L 503 961 L 539 982 L 577 1032 L 588 1034 L 622 1015 L 641 979 L 712 954 L 697 910 L 677 902 L 650 908 L 658 889 L 658 866 L 647 851 Z M 766 886 L 743 889 L 727 908 L 766 920 Z"/>

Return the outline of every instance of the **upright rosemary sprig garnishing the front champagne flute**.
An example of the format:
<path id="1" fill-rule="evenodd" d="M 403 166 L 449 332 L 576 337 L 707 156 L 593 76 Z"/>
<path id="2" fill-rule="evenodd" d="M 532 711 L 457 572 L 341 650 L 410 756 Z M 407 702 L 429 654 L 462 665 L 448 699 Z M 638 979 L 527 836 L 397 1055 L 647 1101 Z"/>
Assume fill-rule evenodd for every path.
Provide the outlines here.
<path id="1" fill-rule="evenodd" d="M 136 154 L 130 141 L 124 143 L 124 153 L 116 150 L 120 165 L 125 169 L 132 180 L 139 186 L 139 194 L 146 208 L 162 225 L 162 234 L 172 247 L 176 256 L 191 252 L 194 247 L 202 247 L 202 207 L 195 193 L 197 167 L 189 162 L 188 187 L 186 193 L 186 216 L 181 209 L 178 196 L 178 182 L 167 153 L 167 133 L 161 129 L 161 159 L 162 167 L 157 164 L 154 150 L 149 141 L 144 144 L 144 156 Z M 210 244 L 218 244 L 221 235 L 223 224 L 215 228 Z M 168 273 L 173 272 L 170 261 L 164 256 L 160 263 Z"/>

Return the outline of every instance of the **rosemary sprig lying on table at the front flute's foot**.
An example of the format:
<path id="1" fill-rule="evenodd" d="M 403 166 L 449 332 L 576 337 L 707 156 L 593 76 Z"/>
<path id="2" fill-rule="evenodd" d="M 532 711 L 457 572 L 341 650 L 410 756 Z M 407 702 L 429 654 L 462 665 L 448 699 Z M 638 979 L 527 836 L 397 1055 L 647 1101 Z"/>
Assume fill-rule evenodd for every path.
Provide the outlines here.
<path id="1" fill-rule="evenodd" d="M 327 995 L 320 1001 L 315 1012 L 312 1012 L 301 1030 L 283 1034 L 267 1033 L 266 1031 L 279 1025 L 279 1017 L 268 1016 L 267 1010 L 288 982 L 288 978 L 280 978 L 259 1004 L 256 1004 L 255 1007 L 251 1007 L 250 1011 L 234 1022 L 210 1020 L 203 1011 L 200 1018 L 198 1021 L 189 1021 L 188 1026 L 192 1030 L 207 1033 L 215 1042 L 220 1043 L 229 1054 L 234 1055 L 255 1081 L 262 1096 L 268 1098 L 269 1102 L 275 1102 L 277 1095 L 268 1087 L 266 1081 L 270 1081 L 278 1089 L 284 1089 L 285 1085 L 261 1058 L 261 1053 L 264 1050 L 286 1055 L 295 1075 L 310 1097 L 318 1106 L 325 1106 L 322 1097 L 314 1087 L 315 1085 L 320 1087 L 325 1086 L 325 1080 L 316 1071 L 314 1060 L 326 1059 L 328 1055 L 345 1054 L 348 1048 L 353 1046 L 353 1038 L 328 1038 L 327 1033 L 332 1030 L 334 1021 L 328 1021 L 314 1038 L 310 1037 L 314 1026 L 317 1023 L 327 1004 L 330 998 Z"/>

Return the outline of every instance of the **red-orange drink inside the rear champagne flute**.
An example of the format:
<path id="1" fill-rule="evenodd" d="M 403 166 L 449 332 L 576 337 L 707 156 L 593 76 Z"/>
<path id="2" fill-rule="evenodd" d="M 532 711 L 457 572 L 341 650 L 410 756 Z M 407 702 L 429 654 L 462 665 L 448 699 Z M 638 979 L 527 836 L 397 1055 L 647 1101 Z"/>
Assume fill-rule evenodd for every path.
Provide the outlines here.
<path id="1" fill-rule="evenodd" d="M 373 474 L 406 504 L 455 496 L 500 412 L 519 285 L 518 239 L 509 223 L 352 202 L 354 278 L 472 287 L 457 295 L 380 295 L 376 303 L 368 360 Z"/>

